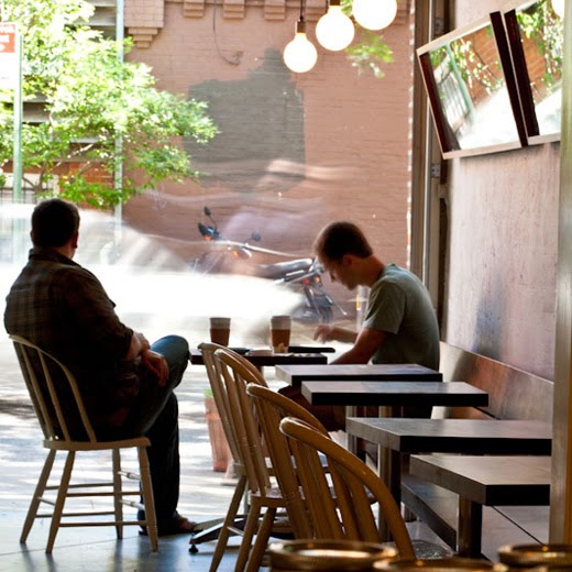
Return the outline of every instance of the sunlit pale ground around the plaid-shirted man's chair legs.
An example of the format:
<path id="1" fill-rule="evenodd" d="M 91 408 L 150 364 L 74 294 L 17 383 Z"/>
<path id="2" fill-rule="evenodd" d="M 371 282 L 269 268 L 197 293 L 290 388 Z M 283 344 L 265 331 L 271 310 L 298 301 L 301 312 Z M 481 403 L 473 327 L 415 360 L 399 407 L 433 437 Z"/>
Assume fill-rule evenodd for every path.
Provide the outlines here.
<path id="1" fill-rule="evenodd" d="M 148 540 L 141 537 L 138 527 L 127 527 L 124 538 L 116 540 L 110 527 L 64 528 L 56 538 L 52 556 L 46 556 L 48 520 L 36 520 L 28 542 L 20 544 L 20 531 L 33 487 L 35 486 L 44 451 L 40 429 L 28 405 L 20 382 L 20 372 L 11 344 L 0 338 L 0 463 L 3 465 L 0 488 L 0 570 L 53 571 L 206 571 L 210 565 L 215 542 L 199 546 L 189 553 L 188 536 L 163 537 L 160 551 L 151 552 Z M 272 383 L 272 372 L 267 372 Z M 224 515 L 232 495 L 232 486 L 224 485 L 223 474 L 212 471 L 208 439 L 204 391 L 208 381 L 205 370 L 189 366 L 177 391 L 179 398 L 182 486 L 179 512 L 197 521 L 210 521 Z M 79 461 L 81 472 L 101 472 L 101 457 Z M 129 515 L 129 509 L 125 510 Z M 414 526 L 413 535 L 426 531 Z M 419 532 L 417 532 L 419 531 Z M 234 566 L 238 537 L 219 568 L 222 572 Z M 432 548 L 430 548 L 432 550 Z"/>

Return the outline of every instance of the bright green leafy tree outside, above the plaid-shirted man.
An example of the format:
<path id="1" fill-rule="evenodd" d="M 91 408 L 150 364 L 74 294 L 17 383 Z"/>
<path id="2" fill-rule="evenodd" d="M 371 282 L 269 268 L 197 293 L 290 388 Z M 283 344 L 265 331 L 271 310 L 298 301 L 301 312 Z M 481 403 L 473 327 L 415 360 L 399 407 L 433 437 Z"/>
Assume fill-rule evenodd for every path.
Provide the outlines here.
<path id="1" fill-rule="evenodd" d="M 207 143 L 217 128 L 207 105 L 155 87 L 151 68 L 124 62 L 130 43 L 87 25 L 85 0 L 4 0 L 4 21 L 23 35 L 23 98 L 44 101 L 45 121 L 24 123 L 24 179 L 45 194 L 98 208 L 127 201 L 160 182 L 196 178 L 180 138 Z M 12 97 L 0 91 L 0 166 L 12 156 Z M 73 169 L 63 169 L 66 165 Z M 110 188 L 116 166 L 136 173 Z M 107 174 L 107 183 L 94 176 Z M 34 174 L 34 177 L 30 175 Z"/>

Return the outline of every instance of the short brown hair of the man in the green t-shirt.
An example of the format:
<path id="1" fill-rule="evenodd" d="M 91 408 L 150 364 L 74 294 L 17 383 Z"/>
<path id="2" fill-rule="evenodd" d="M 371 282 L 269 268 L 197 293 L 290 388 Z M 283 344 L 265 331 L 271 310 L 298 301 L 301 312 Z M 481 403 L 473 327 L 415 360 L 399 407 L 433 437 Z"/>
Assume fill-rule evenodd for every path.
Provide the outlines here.
<path id="1" fill-rule="evenodd" d="M 314 243 L 314 251 L 319 258 L 340 262 L 345 254 L 366 258 L 373 254 L 362 230 L 353 222 L 339 221 L 324 227 Z"/>

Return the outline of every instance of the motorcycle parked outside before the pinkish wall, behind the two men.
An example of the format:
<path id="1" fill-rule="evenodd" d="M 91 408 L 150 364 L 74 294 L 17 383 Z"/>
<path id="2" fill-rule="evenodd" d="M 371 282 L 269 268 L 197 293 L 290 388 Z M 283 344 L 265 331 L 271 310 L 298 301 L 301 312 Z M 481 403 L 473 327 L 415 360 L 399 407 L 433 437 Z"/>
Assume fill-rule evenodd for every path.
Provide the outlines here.
<path id="1" fill-rule="evenodd" d="M 323 287 L 321 279 L 323 270 L 316 258 L 294 258 L 273 264 L 251 264 L 241 267 L 237 262 L 248 261 L 253 253 L 288 258 L 294 255 L 255 246 L 249 241 L 227 240 L 221 235 L 210 209 L 205 207 L 204 212 L 211 223 L 207 226 L 199 222 L 199 232 L 205 241 L 212 241 L 216 243 L 213 246 L 217 248 L 197 258 L 194 270 L 199 272 L 232 272 L 239 267 L 239 272 L 242 271 L 245 274 L 271 279 L 275 284 L 293 288 L 304 295 L 304 304 L 293 312 L 293 318 L 302 322 L 328 323 L 332 321 L 334 306 L 343 316 L 346 316 L 345 310 L 333 300 Z M 258 242 L 261 235 L 253 232 L 251 239 Z"/>

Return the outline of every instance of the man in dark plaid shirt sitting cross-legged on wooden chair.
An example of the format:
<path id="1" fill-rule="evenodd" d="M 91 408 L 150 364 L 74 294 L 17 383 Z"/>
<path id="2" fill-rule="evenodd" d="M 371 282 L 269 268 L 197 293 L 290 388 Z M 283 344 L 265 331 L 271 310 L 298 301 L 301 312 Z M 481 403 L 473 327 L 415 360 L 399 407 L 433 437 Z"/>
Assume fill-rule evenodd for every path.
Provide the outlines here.
<path id="1" fill-rule="evenodd" d="M 160 535 L 191 532 L 194 524 L 177 513 L 178 404 L 173 393 L 188 364 L 187 341 L 169 336 L 150 345 L 124 326 L 96 276 L 72 260 L 78 232 L 74 205 L 50 199 L 36 206 L 33 249 L 8 295 L 6 329 L 69 367 L 99 440 L 150 439 Z"/>

